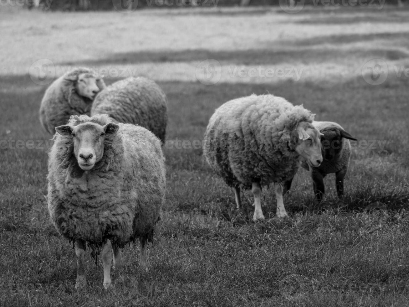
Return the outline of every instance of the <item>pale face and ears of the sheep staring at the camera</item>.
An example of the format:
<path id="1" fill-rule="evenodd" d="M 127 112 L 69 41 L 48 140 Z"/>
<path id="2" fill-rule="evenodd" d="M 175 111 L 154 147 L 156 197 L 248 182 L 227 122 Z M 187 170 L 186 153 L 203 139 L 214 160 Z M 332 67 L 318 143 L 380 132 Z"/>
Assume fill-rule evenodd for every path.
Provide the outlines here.
<path id="1" fill-rule="evenodd" d="M 112 122 L 104 126 L 85 122 L 77 126 L 58 126 L 55 130 L 64 136 L 72 135 L 77 163 L 81 169 L 89 171 L 103 156 L 106 136 L 114 136 L 118 129 L 119 125 Z"/>

